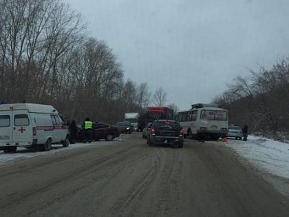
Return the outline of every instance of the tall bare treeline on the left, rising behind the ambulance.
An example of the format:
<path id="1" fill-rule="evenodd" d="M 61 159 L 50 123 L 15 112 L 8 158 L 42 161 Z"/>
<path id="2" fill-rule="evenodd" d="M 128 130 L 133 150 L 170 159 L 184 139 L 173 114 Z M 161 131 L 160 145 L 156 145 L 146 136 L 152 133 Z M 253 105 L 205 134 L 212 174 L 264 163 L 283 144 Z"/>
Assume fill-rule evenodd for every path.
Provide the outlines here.
<path id="1" fill-rule="evenodd" d="M 81 14 L 65 3 L 0 0 L 0 14 L 1 101 L 51 104 L 65 120 L 107 123 L 149 103 L 147 84 L 124 81 L 114 52 L 87 37 Z"/>

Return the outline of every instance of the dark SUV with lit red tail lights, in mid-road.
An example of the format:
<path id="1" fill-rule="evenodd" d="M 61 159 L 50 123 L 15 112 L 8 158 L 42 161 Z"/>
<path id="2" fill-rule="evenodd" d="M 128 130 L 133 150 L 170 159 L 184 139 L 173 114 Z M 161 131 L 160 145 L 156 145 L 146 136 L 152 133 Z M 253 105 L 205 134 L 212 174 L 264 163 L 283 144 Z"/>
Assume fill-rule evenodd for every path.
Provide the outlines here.
<path id="1" fill-rule="evenodd" d="M 156 144 L 164 145 L 184 145 L 184 130 L 178 121 L 158 120 L 153 122 L 149 134 L 147 135 L 147 144 L 154 146 Z"/>

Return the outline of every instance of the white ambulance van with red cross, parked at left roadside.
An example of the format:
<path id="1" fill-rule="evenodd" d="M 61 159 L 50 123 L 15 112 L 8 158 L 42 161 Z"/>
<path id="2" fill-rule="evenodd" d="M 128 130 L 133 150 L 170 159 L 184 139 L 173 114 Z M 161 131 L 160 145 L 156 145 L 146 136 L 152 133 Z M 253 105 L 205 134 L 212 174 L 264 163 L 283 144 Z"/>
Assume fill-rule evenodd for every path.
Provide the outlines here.
<path id="1" fill-rule="evenodd" d="M 16 152 L 17 147 L 37 147 L 49 151 L 52 144 L 69 145 L 68 130 L 52 105 L 0 105 L 0 150 Z"/>

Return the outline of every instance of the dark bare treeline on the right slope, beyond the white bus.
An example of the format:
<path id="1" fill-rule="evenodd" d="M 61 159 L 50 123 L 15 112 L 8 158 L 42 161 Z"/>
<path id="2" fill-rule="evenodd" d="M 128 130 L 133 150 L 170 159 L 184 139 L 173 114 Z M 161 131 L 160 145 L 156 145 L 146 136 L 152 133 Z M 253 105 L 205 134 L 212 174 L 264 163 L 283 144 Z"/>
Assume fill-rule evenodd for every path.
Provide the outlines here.
<path id="1" fill-rule="evenodd" d="M 270 70 L 261 68 L 247 78 L 237 77 L 215 103 L 228 109 L 229 121 L 249 125 L 249 131 L 278 136 L 289 130 L 289 59 Z"/>

